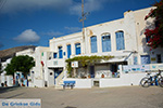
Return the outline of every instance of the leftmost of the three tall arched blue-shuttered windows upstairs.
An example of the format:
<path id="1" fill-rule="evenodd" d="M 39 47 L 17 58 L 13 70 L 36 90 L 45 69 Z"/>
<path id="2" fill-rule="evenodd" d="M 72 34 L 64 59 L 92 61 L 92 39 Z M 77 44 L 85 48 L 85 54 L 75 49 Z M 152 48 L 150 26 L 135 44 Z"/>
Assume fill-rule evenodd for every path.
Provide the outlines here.
<path id="1" fill-rule="evenodd" d="M 90 37 L 91 53 L 97 53 L 97 36 Z"/>

